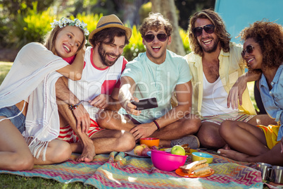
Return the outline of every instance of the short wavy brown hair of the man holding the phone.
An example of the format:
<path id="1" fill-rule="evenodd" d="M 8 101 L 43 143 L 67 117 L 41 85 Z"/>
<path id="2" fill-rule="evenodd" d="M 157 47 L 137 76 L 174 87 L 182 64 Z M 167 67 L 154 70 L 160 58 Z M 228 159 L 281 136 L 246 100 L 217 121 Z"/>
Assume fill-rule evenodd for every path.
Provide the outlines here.
<path id="1" fill-rule="evenodd" d="M 161 13 L 149 13 L 148 18 L 144 18 L 144 22 L 142 23 L 141 27 L 139 28 L 139 32 L 144 38 L 146 32 L 151 29 L 155 29 L 158 31 L 164 25 L 164 29 L 166 35 L 169 37 L 172 34 L 173 27 L 168 19 L 165 19 Z"/>

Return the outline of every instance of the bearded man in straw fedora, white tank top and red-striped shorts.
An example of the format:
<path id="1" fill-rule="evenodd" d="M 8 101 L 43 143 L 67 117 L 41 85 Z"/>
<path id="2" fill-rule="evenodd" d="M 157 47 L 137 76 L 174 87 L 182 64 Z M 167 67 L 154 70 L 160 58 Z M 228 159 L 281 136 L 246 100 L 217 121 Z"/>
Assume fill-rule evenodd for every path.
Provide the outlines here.
<path id="1" fill-rule="evenodd" d="M 92 161 L 96 154 L 125 152 L 134 147 L 129 132 L 100 128 L 96 118 L 101 109 L 118 110 L 120 75 L 127 60 L 122 51 L 132 35 L 115 15 L 103 16 L 89 35 L 81 80 L 62 78 L 56 83 L 61 114 L 58 139 L 70 142 L 72 152 L 82 153 L 77 161 Z"/>

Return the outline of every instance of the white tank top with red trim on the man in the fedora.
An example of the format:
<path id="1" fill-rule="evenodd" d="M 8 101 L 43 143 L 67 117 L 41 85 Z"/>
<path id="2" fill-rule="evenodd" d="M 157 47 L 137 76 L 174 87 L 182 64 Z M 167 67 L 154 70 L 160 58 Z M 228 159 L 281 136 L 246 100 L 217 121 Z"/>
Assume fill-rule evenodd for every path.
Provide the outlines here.
<path id="1" fill-rule="evenodd" d="M 101 69 L 94 65 L 92 56 L 93 48 L 87 47 L 84 54 L 82 79 L 77 81 L 69 80 L 70 91 L 78 99 L 84 101 L 94 99 L 99 94 L 111 95 L 114 87 L 120 87 L 120 75 L 127 64 L 124 56 L 120 56 L 113 66 Z M 88 102 L 82 102 L 82 104 L 87 109 L 90 118 L 96 120 L 96 114 L 99 109 Z"/>

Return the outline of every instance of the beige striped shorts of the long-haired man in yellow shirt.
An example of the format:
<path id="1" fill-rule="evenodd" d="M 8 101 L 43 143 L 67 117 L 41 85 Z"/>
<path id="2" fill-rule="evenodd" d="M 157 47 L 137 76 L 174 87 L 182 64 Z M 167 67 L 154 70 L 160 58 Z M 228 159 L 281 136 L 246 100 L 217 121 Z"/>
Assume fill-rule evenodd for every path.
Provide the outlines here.
<path id="1" fill-rule="evenodd" d="M 203 122 L 210 122 L 215 123 L 220 126 L 222 121 L 229 120 L 229 121 L 243 121 L 248 122 L 256 115 L 249 115 L 244 114 L 243 112 L 234 112 L 231 114 L 219 114 L 214 116 L 203 116 L 203 119 L 201 120 L 201 123 Z"/>

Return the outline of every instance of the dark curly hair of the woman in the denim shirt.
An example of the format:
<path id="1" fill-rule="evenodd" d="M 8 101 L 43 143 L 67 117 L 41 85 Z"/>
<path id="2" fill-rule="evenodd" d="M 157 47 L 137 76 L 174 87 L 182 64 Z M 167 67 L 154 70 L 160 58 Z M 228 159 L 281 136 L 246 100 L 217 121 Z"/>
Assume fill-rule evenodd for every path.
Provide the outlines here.
<path id="1" fill-rule="evenodd" d="M 268 20 L 256 21 L 240 32 L 241 41 L 253 39 L 263 54 L 263 68 L 278 67 L 283 62 L 282 25 Z M 247 65 L 249 69 L 249 64 Z"/>

